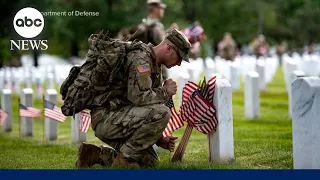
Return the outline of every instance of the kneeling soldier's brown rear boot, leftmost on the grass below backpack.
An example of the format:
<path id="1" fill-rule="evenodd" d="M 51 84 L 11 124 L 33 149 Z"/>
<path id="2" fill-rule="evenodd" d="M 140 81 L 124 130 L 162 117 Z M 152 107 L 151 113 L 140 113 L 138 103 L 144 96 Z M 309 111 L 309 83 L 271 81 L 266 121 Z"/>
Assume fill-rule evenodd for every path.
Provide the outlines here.
<path id="1" fill-rule="evenodd" d="M 78 150 L 76 168 L 88 168 L 95 164 L 109 166 L 116 155 L 117 152 L 112 148 L 82 143 Z"/>

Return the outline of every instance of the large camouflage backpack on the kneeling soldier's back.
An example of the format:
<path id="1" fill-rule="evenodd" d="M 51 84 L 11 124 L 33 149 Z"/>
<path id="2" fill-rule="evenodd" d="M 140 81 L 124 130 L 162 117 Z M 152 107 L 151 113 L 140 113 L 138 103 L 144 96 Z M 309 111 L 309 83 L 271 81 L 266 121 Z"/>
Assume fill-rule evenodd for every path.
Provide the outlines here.
<path id="1" fill-rule="evenodd" d="M 60 88 L 64 100 L 61 110 L 66 116 L 74 116 L 84 109 L 108 102 L 111 84 L 122 69 L 127 53 L 139 48 L 137 44 L 142 44 L 112 39 L 103 31 L 92 34 L 88 43 L 86 62 L 82 66 L 74 66 Z"/>

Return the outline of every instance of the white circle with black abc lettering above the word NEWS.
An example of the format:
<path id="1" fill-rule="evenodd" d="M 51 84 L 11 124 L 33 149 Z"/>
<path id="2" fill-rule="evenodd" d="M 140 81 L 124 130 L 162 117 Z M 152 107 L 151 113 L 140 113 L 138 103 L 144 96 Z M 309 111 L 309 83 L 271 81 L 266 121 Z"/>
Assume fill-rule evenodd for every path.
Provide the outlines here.
<path id="1" fill-rule="evenodd" d="M 44 27 L 42 14 L 34 8 L 23 8 L 17 12 L 13 19 L 16 32 L 24 38 L 38 36 Z"/>

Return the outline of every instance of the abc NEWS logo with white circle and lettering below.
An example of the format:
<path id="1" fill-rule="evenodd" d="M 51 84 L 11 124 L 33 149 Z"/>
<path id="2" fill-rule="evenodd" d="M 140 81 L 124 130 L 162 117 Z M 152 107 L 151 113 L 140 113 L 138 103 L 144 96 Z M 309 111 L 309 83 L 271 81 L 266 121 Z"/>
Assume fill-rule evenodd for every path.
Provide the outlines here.
<path id="1" fill-rule="evenodd" d="M 13 19 L 15 31 L 24 38 L 38 36 L 44 28 L 42 14 L 34 8 L 23 8 L 17 12 Z M 47 50 L 48 40 L 10 40 L 10 50 Z"/>

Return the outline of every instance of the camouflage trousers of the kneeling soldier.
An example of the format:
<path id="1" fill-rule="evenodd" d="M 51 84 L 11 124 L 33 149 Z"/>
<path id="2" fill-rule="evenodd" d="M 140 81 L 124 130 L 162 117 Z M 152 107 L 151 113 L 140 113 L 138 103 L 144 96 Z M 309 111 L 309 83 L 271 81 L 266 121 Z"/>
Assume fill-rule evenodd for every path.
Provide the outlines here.
<path id="1" fill-rule="evenodd" d="M 116 111 L 99 109 L 92 113 L 92 119 L 100 119 L 95 136 L 140 166 L 158 162 L 152 146 L 162 137 L 170 116 L 169 108 L 159 104 L 125 106 Z"/>

